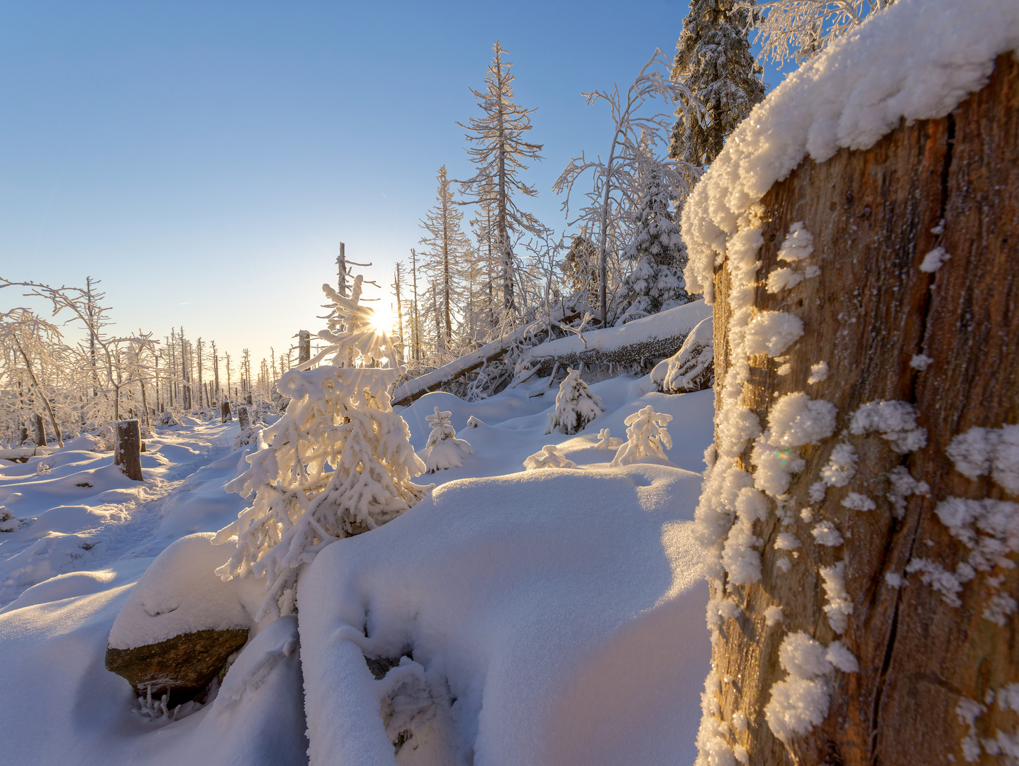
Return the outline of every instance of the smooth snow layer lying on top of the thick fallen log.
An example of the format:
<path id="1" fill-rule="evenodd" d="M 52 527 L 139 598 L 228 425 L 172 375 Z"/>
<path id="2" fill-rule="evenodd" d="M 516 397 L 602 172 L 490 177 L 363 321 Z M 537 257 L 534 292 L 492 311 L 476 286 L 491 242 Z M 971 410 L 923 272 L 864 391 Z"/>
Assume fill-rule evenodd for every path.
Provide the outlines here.
<path id="1" fill-rule="evenodd" d="M 628 345 L 659 338 L 673 338 L 693 330 L 703 320 L 711 316 L 711 307 L 703 300 L 694 300 L 675 309 L 667 309 L 649 317 L 628 322 L 621 327 L 585 332 L 583 339 L 572 335 L 556 338 L 534 346 L 528 351 L 525 364 L 531 360 L 546 357 L 560 357 L 567 353 L 587 351 L 614 351 Z"/>

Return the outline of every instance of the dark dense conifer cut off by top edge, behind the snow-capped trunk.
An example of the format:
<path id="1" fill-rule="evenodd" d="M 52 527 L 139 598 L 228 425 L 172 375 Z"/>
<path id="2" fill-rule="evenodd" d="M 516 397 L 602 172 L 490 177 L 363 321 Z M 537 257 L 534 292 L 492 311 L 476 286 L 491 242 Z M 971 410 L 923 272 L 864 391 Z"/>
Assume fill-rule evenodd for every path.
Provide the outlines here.
<path id="1" fill-rule="evenodd" d="M 676 44 L 672 79 L 690 89 L 703 110 L 676 112 L 669 156 L 710 165 L 726 136 L 764 99 L 761 67 L 750 54 L 747 26 L 753 0 L 693 0 Z"/>

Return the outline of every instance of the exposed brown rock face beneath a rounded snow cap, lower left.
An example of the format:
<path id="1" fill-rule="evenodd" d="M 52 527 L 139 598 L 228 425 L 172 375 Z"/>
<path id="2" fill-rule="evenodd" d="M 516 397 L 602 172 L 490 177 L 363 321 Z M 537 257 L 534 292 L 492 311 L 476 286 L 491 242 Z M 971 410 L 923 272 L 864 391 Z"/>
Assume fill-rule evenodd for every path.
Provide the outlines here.
<path id="1" fill-rule="evenodd" d="M 198 631 L 135 649 L 106 650 L 106 669 L 126 678 L 139 695 L 169 693 L 169 704 L 198 696 L 248 641 L 248 630 Z"/>

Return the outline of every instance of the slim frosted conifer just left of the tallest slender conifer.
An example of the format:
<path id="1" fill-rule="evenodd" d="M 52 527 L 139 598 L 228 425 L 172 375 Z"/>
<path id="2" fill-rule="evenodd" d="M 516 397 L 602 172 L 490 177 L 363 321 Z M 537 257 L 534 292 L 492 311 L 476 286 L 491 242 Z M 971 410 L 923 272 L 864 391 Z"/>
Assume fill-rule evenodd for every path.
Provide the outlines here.
<path id="1" fill-rule="evenodd" d="M 464 214 L 453 202 L 445 165 L 439 168 L 435 207 L 425 215 L 421 243 L 428 249 L 425 272 L 435 288 L 437 343 L 441 351 L 452 347 L 452 314 L 461 292 L 461 275 L 470 259 L 471 242 L 461 229 Z"/>

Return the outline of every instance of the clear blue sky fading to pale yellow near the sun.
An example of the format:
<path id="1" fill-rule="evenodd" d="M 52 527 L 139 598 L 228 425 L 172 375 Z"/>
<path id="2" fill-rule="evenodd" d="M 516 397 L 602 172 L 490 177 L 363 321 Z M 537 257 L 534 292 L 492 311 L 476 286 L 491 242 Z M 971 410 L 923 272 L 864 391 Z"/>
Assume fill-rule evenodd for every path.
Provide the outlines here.
<path id="1" fill-rule="evenodd" d="M 625 88 L 684 0 L 640 2 L 0 2 L 0 275 L 102 281 L 121 327 L 183 325 L 255 360 L 322 322 L 347 258 L 392 265 L 421 236 L 435 174 L 470 172 L 497 39 L 544 162 L 530 210 L 604 152 L 582 91 Z M 22 303 L 0 291 L 0 309 Z M 386 296 L 388 303 L 389 297 Z"/>

